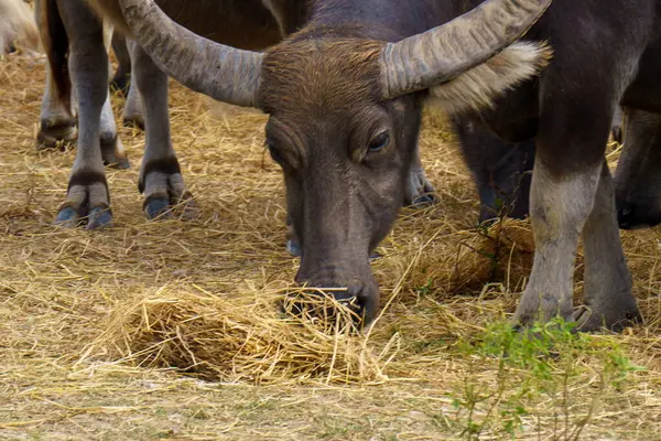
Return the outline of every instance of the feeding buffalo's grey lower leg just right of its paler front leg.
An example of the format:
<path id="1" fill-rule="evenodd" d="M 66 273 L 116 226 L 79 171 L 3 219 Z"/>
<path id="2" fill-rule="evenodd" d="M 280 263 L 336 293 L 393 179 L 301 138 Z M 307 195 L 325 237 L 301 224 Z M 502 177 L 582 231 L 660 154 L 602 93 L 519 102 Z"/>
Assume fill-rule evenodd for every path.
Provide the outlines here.
<path id="1" fill-rule="evenodd" d="M 631 275 L 617 227 L 613 179 L 604 162 L 594 208 L 583 228 L 585 252 L 584 303 L 578 315 L 581 330 L 602 326 L 614 331 L 640 321 L 631 294 Z"/>

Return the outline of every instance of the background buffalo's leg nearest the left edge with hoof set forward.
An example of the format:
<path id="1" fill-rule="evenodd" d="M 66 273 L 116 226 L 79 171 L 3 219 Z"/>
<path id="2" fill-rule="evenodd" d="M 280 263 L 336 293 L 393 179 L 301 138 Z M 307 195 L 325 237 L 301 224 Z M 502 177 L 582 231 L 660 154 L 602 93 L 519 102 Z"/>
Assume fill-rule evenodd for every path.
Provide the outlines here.
<path id="1" fill-rule="evenodd" d="M 101 22 L 77 1 L 61 2 L 63 21 L 71 39 L 71 74 L 79 101 L 78 150 L 72 168 L 67 195 L 56 223 L 88 228 L 112 222 L 110 196 L 100 148 L 101 110 L 108 96 L 108 55 Z"/>

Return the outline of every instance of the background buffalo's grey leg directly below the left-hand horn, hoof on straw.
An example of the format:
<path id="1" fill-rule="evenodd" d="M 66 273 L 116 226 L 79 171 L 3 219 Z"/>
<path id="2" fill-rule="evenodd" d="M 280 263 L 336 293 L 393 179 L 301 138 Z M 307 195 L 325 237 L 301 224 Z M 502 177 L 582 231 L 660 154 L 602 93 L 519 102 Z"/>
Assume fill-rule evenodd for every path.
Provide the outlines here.
<path id="1" fill-rule="evenodd" d="M 170 138 L 167 116 L 167 75 L 137 44 L 133 45 L 136 86 L 144 99 L 145 148 L 140 169 L 139 190 L 144 195 L 149 218 L 169 215 L 182 204 L 184 215 L 195 214 Z"/>

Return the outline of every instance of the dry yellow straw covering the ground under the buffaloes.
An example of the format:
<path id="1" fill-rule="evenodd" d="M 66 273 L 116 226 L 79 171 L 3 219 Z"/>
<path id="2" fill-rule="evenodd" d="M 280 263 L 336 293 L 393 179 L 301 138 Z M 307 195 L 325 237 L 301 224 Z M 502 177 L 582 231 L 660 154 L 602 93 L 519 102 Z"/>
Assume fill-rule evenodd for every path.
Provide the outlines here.
<path id="1" fill-rule="evenodd" d="M 74 152 L 34 149 L 43 77 L 39 61 L 0 63 L 1 439 L 458 439 L 468 386 L 503 381 L 489 418 L 509 418 L 524 369 L 503 380 L 497 359 L 462 347 L 513 311 L 530 228 L 473 228 L 475 192 L 441 119 L 425 118 L 422 148 L 442 204 L 402 213 L 373 263 L 382 314 L 356 334 L 343 318 L 281 313 L 297 260 L 284 249 L 264 116 L 173 85 L 174 142 L 202 216 L 147 222 L 133 166 L 108 170 L 115 228 L 63 230 L 52 219 Z M 121 137 L 138 164 L 142 133 Z M 570 398 L 522 399 L 517 438 L 565 439 L 557 421 L 568 413 L 573 428 L 590 416 L 581 439 L 661 439 L 658 230 L 624 240 L 646 325 L 589 337 L 559 389 Z M 610 385 L 599 353 L 616 346 L 646 370 Z"/>

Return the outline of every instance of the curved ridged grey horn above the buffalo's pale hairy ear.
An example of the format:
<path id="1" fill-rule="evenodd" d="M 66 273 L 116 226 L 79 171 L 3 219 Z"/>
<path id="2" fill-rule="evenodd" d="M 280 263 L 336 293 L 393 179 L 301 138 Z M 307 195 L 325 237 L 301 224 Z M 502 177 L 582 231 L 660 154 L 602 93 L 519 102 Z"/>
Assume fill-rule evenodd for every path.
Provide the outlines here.
<path id="1" fill-rule="evenodd" d="M 381 53 L 384 98 L 426 89 L 475 67 L 523 35 L 551 0 L 487 0 Z"/>

